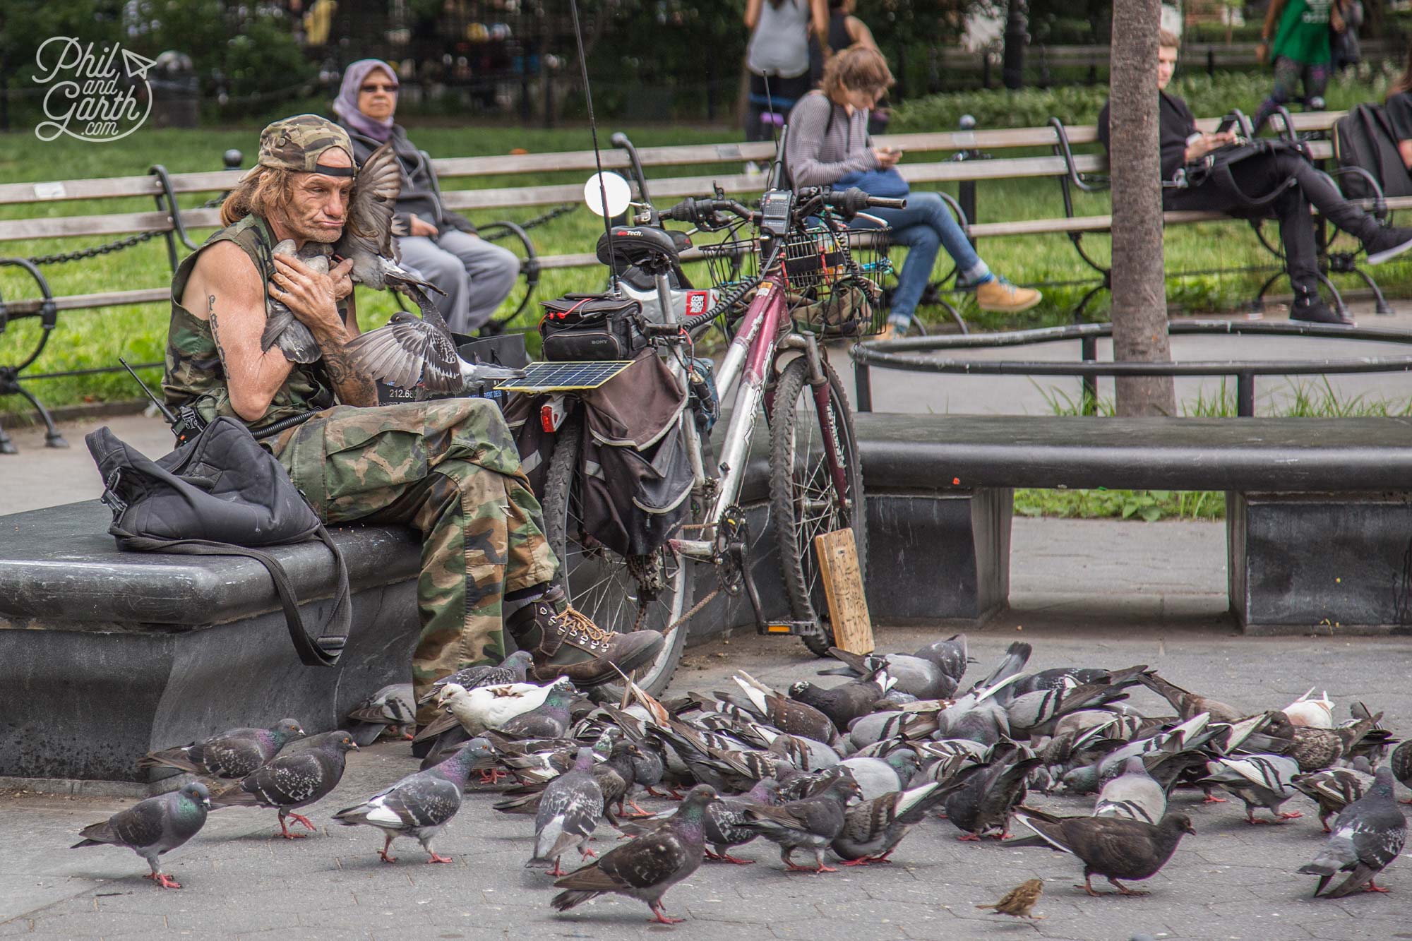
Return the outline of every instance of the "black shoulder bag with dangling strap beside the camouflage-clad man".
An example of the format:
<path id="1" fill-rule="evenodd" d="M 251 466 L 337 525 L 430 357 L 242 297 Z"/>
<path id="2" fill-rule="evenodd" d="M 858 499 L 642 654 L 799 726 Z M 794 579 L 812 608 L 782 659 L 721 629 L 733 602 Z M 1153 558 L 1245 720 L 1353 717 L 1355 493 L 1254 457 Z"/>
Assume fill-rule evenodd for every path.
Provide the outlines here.
<path id="1" fill-rule="evenodd" d="M 332 667 L 347 641 L 349 575 L 329 531 L 273 454 L 241 422 L 222 415 L 171 454 L 152 461 L 106 425 L 86 439 L 103 476 L 109 533 L 120 550 L 182 555 L 241 555 L 265 567 L 289 637 L 306 667 Z M 333 552 L 335 603 L 309 637 L 299 599 L 277 558 L 250 547 L 318 540 Z"/>

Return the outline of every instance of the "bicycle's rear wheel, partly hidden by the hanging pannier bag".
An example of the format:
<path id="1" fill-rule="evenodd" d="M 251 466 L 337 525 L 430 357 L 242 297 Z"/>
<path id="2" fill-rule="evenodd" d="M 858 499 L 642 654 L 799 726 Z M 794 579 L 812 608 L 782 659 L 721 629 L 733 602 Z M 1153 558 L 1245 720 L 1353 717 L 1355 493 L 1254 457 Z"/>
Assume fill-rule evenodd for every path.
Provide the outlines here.
<path id="1" fill-rule="evenodd" d="M 583 520 L 583 486 L 579 448 L 583 415 L 575 411 L 559 427 L 544 487 L 544 528 L 559 560 L 569 603 L 604 630 L 665 630 L 692 606 L 690 572 L 665 545 L 652 555 L 624 558 L 589 535 Z M 658 695 L 671 682 L 686 646 L 688 626 L 666 636 L 662 651 L 637 673 L 637 684 Z M 597 698 L 618 698 L 623 684 L 592 691 Z"/>

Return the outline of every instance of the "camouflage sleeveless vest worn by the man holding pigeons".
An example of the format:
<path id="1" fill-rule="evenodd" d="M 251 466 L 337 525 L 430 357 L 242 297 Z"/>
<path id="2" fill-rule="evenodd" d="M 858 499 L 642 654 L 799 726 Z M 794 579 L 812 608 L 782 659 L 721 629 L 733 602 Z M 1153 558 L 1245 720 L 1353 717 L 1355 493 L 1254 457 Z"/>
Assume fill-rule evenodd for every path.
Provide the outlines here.
<path id="1" fill-rule="evenodd" d="M 240 415 L 230 406 L 226 370 L 216 352 L 210 322 L 184 308 L 181 295 L 196 267 L 196 256 L 215 243 L 226 240 L 234 242 L 250 256 L 260 273 L 261 284 L 267 284 L 270 276 L 274 274 L 271 253 L 274 233 L 270 232 L 264 219 L 251 213 L 206 239 L 201 249 L 186 256 L 176 268 L 176 274 L 172 276 L 172 319 L 167 332 L 167 372 L 162 376 L 162 391 L 169 406 L 192 404 L 206 421 L 216 415 L 232 415 L 233 418 L 240 418 Z M 265 302 L 268 304 L 268 295 Z M 257 421 L 246 421 L 246 425 L 251 431 L 258 431 L 282 418 L 315 408 L 328 408 L 336 403 L 333 383 L 329 381 L 323 360 L 309 365 L 292 363 L 289 376 L 270 400 L 270 408 Z"/>

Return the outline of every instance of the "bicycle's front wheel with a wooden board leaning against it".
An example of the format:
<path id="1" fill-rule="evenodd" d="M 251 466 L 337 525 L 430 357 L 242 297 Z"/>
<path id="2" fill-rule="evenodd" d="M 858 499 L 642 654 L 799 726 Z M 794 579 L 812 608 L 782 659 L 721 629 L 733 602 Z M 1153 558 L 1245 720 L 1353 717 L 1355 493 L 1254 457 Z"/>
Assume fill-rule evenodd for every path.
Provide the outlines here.
<path id="1" fill-rule="evenodd" d="M 770 516 L 779 545 L 785 592 L 795 620 L 818 625 L 802 634 L 815 654 L 827 656 L 833 646 L 829 603 L 819 575 L 813 537 L 853 527 L 858 571 L 867 575 L 867 507 L 863 495 L 863 465 L 853 434 L 853 411 L 837 373 L 823 360 L 826 406 L 815 404 L 809 384 L 809 363 L 803 356 L 785 366 L 775 387 L 770 421 Z M 826 454 L 823 430 L 833 439 L 833 455 L 843 472 L 839 493 Z"/>

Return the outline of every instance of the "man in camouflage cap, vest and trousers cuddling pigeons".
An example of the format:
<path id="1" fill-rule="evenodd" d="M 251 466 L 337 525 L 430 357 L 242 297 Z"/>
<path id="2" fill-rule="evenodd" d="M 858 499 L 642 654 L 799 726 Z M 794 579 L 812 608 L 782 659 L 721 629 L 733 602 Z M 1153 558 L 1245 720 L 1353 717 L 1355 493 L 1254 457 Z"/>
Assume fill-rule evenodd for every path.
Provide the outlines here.
<path id="1" fill-rule="evenodd" d="M 602 630 L 552 585 L 558 562 L 500 410 L 484 398 L 378 406 L 343 349 L 359 335 L 352 261 L 321 274 L 273 254 L 282 239 L 297 249 L 337 242 L 353 178 L 339 126 L 298 114 L 264 129 L 258 165 L 222 205 L 226 227 L 172 277 L 168 403 L 244 421 L 325 521 L 422 533 L 418 697 L 455 670 L 498 663 L 504 630 L 534 654 L 538 681 L 594 685 L 617 677 L 614 667 L 651 663 L 661 634 Z M 321 359 L 292 363 L 278 345 L 261 348 L 270 297 L 309 328 Z M 503 620 L 507 600 L 528 603 Z"/>

